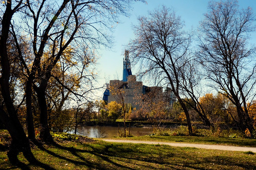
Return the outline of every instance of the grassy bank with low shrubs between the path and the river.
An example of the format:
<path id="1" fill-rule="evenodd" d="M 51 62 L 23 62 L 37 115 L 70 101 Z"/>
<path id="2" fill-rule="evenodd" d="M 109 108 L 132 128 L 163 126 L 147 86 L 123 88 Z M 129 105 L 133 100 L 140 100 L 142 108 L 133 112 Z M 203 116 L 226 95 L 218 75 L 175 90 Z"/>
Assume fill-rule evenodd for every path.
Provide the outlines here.
<path id="1" fill-rule="evenodd" d="M 155 129 L 154 133 L 147 136 L 133 136 L 129 140 L 160 141 L 160 142 L 183 142 L 198 144 L 221 144 L 233 145 L 238 147 L 256 147 L 256 139 L 243 138 L 239 131 L 234 130 L 216 130 L 211 132 L 206 129 L 195 129 L 196 136 L 188 136 L 188 130 L 185 126 L 176 129 Z M 113 138 L 113 137 L 112 137 Z M 114 137 L 114 139 L 123 139 Z"/>

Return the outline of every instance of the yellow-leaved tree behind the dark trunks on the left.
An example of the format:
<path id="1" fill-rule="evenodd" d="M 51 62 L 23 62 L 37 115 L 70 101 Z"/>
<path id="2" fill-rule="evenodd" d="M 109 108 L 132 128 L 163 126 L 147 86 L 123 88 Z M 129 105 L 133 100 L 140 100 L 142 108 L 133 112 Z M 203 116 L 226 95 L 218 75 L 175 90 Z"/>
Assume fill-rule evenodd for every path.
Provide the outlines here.
<path id="1" fill-rule="evenodd" d="M 49 112 L 49 126 L 55 128 L 60 117 L 65 118 L 65 110 L 69 110 L 71 101 L 80 100 L 76 98 L 89 93 L 93 89 L 93 66 L 95 58 L 93 56 L 86 56 L 83 65 L 77 67 L 77 62 L 72 59 L 74 51 L 68 48 L 64 55 L 57 62 L 52 70 L 52 77 L 49 79 L 49 86 L 46 90 L 47 107 Z M 83 91 L 83 92 L 82 92 Z M 87 103 L 87 101 L 85 101 Z M 80 104 L 77 104 L 79 107 Z M 66 116 L 66 121 L 68 116 Z M 62 126 L 58 126 L 62 127 Z M 62 131 L 62 129 L 58 129 Z"/>

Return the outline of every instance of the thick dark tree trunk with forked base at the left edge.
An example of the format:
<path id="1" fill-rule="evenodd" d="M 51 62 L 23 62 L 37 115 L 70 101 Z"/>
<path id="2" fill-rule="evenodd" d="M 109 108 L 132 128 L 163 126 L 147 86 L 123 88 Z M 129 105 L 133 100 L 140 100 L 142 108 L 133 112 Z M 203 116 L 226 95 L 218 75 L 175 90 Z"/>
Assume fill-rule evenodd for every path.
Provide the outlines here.
<path id="1" fill-rule="evenodd" d="M 33 163 L 36 163 L 36 159 L 31 153 L 28 138 L 21 126 L 21 123 L 17 117 L 17 108 L 15 108 L 12 95 L 11 95 L 11 67 L 10 63 L 10 50 L 8 49 L 8 41 L 10 38 L 10 26 L 13 15 L 21 10 L 24 5 L 23 1 L 13 2 L 5 1 L 2 4 L 1 9 L 1 37 L 0 37 L 0 64 L 1 64 L 1 104 L 0 104 L 0 120 L 7 128 L 12 137 L 10 150 L 8 151 L 8 158 L 10 162 L 17 164 L 17 155 L 22 152 L 25 158 Z"/>

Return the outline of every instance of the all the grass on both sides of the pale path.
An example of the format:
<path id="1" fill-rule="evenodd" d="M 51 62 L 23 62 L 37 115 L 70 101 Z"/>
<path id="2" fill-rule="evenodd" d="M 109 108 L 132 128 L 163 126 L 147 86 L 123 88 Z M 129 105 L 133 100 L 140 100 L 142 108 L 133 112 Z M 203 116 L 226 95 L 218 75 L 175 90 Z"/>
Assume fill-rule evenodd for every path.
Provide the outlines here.
<path id="1" fill-rule="evenodd" d="M 18 159 L 23 166 L 18 167 L 12 165 L 7 157 L 6 146 L 10 136 L 7 131 L 0 131 L 0 169 L 256 169 L 256 154 L 253 152 L 180 148 L 161 144 L 108 143 L 65 133 L 52 135 L 56 145 L 32 145 L 32 152 L 41 162 L 40 165 L 30 164 L 19 154 Z M 155 134 L 114 139 L 256 147 L 256 139 L 241 137 Z"/>

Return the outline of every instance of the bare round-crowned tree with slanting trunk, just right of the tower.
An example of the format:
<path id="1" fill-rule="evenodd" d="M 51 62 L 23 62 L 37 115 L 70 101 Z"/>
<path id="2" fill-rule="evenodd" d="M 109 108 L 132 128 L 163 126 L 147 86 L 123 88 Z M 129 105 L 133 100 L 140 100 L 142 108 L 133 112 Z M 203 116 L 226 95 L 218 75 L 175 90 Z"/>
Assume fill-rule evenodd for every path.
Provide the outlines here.
<path id="1" fill-rule="evenodd" d="M 136 38 L 130 43 L 130 52 L 135 63 L 141 64 L 140 75 L 150 74 L 157 83 L 167 83 L 180 102 L 191 135 L 189 112 L 181 98 L 181 72 L 190 60 L 188 55 L 191 38 L 183 31 L 183 22 L 173 11 L 163 7 L 139 17 L 135 26 Z"/>

